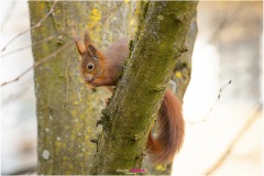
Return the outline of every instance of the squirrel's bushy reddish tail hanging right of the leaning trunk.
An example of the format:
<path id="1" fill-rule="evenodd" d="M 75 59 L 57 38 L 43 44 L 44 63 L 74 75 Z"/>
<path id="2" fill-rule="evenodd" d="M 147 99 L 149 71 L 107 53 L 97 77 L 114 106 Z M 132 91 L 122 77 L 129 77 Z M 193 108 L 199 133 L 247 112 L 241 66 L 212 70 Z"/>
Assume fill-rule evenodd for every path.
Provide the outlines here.
<path id="1" fill-rule="evenodd" d="M 150 133 L 147 145 L 153 163 L 170 163 L 184 142 L 185 122 L 182 106 L 172 91 L 166 90 L 157 117 L 157 138 Z"/>

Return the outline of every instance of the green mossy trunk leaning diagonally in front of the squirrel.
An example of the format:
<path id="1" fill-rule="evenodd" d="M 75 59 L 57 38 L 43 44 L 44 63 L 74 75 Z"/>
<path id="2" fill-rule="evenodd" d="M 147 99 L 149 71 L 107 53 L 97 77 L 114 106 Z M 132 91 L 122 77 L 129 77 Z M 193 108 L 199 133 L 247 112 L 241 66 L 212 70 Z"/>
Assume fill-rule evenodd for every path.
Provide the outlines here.
<path id="1" fill-rule="evenodd" d="M 122 78 L 103 111 L 92 174 L 140 167 L 153 124 L 198 2 L 145 4 Z"/>

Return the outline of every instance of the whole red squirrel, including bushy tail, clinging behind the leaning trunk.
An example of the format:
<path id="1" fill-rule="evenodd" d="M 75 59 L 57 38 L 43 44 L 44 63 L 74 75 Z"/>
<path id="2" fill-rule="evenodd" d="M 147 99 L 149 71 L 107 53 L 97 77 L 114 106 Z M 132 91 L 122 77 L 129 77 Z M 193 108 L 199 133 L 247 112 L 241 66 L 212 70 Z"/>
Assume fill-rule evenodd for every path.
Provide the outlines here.
<path id="1" fill-rule="evenodd" d="M 98 50 L 88 32 L 84 42 L 73 31 L 74 40 L 81 56 L 80 73 L 84 84 L 89 89 L 100 86 L 116 86 L 122 70 L 124 59 L 129 56 L 129 40 L 113 43 L 108 50 Z M 169 90 L 165 91 L 158 111 L 158 134 L 153 138 L 148 134 L 147 147 L 153 163 L 170 163 L 184 142 L 185 122 L 182 106 Z"/>

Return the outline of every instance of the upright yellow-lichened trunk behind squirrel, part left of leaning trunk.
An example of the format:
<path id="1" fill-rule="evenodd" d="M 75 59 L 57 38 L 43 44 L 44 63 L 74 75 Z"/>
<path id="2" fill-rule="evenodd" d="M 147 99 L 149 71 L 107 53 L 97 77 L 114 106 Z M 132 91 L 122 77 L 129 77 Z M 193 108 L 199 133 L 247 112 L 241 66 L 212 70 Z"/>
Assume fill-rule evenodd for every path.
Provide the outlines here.
<path id="1" fill-rule="evenodd" d="M 51 9 L 53 1 L 29 1 L 31 25 Z M 99 46 L 118 37 L 131 35 L 134 29 L 134 2 L 58 1 L 54 12 L 32 31 L 32 42 L 52 36 L 51 42 L 33 46 L 35 62 L 63 52 L 34 69 L 37 114 L 37 174 L 87 175 L 96 145 L 99 112 L 105 106 L 102 91 L 91 92 L 80 81 L 78 54 L 70 44 L 70 25 L 82 35 L 86 28 Z M 120 11 L 122 9 L 122 11 Z M 130 16 L 128 16 L 131 14 Z M 110 25 L 109 25 L 110 24 Z M 119 28 L 118 25 L 123 24 Z M 114 33 L 110 32 L 113 31 Z M 67 45 L 67 46 L 65 46 Z"/>

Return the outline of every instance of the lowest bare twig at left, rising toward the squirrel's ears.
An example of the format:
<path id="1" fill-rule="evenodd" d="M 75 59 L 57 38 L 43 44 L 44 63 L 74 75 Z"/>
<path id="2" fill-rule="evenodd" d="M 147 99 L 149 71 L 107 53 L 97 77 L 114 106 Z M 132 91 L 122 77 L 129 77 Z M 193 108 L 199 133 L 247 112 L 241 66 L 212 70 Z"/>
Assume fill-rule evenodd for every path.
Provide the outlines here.
<path id="1" fill-rule="evenodd" d="M 55 51 L 54 53 L 52 53 L 51 55 L 46 56 L 45 58 L 41 59 L 40 62 L 34 63 L 31 67 L 29 67 L 28 69 L 25 69 L 23 73 L 21 73 L 18 77 L 15 77 L 12 80 L 6 81 L 1 84 L 2 86 L 6 86 L 8 84 L 18 81 L 22 76 L 24 76 L 25 74 L 28 74 L 31 69 L 36 68 L 38 66 L 41 66 L 42 64 L 44 64 L 45 62 L 52 59 L 53 57 L 55 57 L 57 54 L 62 53 L 65 48 L 67 48 L 68 46 L 70 46 L 73 43 L 69 42 L 67 44 L 65 44 L 63 47 L 58 48 L 57 51 Z"/>

